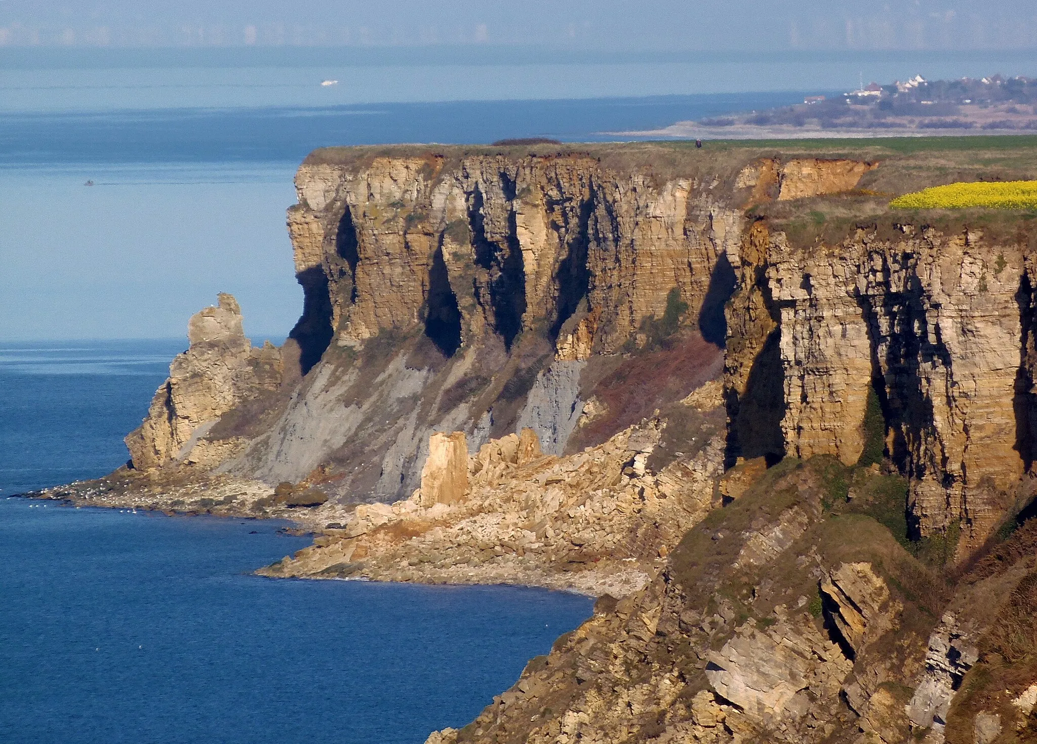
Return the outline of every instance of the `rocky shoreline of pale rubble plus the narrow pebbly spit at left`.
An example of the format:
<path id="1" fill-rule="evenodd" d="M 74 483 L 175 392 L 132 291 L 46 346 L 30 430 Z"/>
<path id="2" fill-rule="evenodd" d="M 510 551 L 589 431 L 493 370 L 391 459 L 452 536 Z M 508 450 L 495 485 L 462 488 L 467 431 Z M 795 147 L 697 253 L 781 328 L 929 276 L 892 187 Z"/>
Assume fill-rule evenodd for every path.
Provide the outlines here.
<path id="1" fill-rule="evenodd" d="M 314 533 L 311 547 L 259 569 L 261 576 L 626 596 L 651 580 L 688 527 L 721 504 L 722 448 L 708 434 L 723 426 L 719 393 L 709 382 L 680 404 L 702 419 L 701 446 L 658 472 L 648 464 L 658 462 L 652 454 L 667 424 L 654 418 L 564 458 L 544 456 L 531 430 L 492 440 L 472 458 L 446 438 L 439 449 L 433 441 L 424 489 L 393 504 L 292 506 L 256 480 L 183 484 L 128 471 L 26 495 L 169 515 L 284 519 Z M 442 477 L 458 466 L 463 485 Z"/>

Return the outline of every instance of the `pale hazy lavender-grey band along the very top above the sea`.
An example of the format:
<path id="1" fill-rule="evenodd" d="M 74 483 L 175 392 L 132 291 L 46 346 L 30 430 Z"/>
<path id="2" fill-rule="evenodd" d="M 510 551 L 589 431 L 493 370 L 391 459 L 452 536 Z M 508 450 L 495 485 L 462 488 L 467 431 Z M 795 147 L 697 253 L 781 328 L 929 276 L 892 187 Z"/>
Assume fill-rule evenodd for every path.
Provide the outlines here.
<path id="1" fill-rule="evenodd" d="M 1033 0 L 0 0 L 0 44 L 1037 47 Z"/>

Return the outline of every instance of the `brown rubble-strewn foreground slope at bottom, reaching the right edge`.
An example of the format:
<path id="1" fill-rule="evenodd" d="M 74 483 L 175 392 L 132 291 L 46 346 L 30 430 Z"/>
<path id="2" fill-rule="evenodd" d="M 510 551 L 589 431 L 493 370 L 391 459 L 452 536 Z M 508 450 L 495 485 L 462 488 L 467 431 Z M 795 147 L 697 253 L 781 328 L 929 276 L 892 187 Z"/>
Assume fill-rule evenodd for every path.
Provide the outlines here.
<path id="1" fill-rule="evenodd" d="M 868 516 L 891 476 L 863 471 L 854 499 L 828 505 L 840 468 L 769 470 L 693 527 L 653 581 L 599 599 L 472 723 L 428 744 L 944 741 L 978 639 L 1033 564 L 1033 530 L 949 597 Z M 1005 704 L 1017 711 L 1037 667 L 1015 674 Z M 992 731 L 994 715 L 1031 731 L 1007 712 L 960 727 Z"/>

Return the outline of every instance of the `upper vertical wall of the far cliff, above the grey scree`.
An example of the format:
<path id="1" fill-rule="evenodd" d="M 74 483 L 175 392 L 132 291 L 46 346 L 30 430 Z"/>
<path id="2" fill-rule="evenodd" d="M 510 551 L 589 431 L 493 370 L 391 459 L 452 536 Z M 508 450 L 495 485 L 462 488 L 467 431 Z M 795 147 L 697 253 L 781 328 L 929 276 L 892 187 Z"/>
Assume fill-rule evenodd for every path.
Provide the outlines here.
<path id="1" fill-rule="evenodd" d="M 581 154 L 314 162 L 296 184 L 296 270 L 343 346 L 424 323 L 451 353 L 486 334 L 510 347 L 577 315 L 562 345 L 576 332 L 612 352 L 674 287 L 694 320 L 740 225 L 711 181 Z"/>

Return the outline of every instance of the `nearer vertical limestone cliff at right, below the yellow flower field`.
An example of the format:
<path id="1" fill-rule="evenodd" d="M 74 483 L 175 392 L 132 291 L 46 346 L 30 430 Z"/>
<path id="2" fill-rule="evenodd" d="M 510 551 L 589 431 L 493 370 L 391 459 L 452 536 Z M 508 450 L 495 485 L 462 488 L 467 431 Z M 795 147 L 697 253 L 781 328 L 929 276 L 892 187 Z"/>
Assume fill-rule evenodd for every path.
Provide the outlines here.
<path id="1" fill-rule="evenodd" d="M 921 533 L 960 522 L 982 543 L 1028 465 L 1024 246 L 904 225 L 795 247 L 761 222 L 740 257 L 727 359 L 739 451 L 853 464 L 873 394 Z"/>

